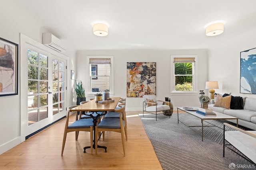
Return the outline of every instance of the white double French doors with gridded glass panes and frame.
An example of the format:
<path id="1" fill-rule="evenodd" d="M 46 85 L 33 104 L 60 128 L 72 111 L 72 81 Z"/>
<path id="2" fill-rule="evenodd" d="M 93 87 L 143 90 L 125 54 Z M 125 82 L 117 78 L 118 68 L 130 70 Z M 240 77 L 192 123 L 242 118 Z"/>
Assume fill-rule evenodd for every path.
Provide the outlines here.
<path id="1" fill-rule="evenodd" d="M 27 77 L 27 89 L 22 88 L 27 92 L 22 116 L 27 121 L 22 123 L 22 136 L 26 137 L 66 115 L 66 61 L 27 43 L 22 54 L 28 69 L 22 76 Z"/>

